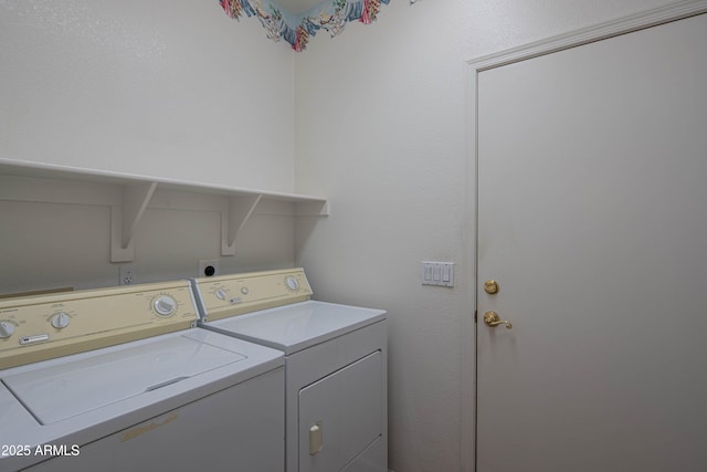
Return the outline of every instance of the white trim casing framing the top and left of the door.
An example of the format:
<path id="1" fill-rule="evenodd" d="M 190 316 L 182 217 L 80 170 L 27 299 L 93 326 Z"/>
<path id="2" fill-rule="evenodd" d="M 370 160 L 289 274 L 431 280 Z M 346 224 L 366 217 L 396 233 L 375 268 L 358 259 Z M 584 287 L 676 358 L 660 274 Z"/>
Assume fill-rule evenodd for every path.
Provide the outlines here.
<path id="1" fill-rule="evenodd" d="M 463 317 L 463 333 L 472 336 L 462 338 L 462 358 L 469 359 L 462 363 L 461 373 L 461 464 L 462 471 L 476 470 L 476 287 L 477 271 L 477 239 L 478 239 L 478 75 L 487 70 L 526 61 L 529 59 L 552 54 L 555 52 L 577 48 L 588 43 L 606 40 L 621 34 L 632 33 L 658 24 L 682 20 L 707 12 L 707 0 L 684 0 L 667 6 L 646 10 L 635 14 L 610 20 L 568 33 L 553 35 L 517 48 L 500 51 L 466 62 L 467 77 L 465 103 L 467 105 L 466 123 L 471 130 L 467 140 L 467 156 L 469 159 L 468 175 L 468 216 L 467 221 L 473 228 L 469 234 L 468 266 L 472 270 L 472 284 L 467 294 L 467 305 L 473 307 L 473 316 Z M 471 368 L 469 368 L 471 366 Z"/>

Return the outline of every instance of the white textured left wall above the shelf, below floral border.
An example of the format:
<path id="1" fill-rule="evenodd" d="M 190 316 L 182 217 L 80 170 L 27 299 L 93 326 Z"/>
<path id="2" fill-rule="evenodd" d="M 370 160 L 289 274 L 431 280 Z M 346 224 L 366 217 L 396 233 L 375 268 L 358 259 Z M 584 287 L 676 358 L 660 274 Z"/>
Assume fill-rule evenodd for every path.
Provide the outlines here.
<path id="1" fill-rule="evenodd" d="M 292 191 L 293 54 L 217 1 L 0 1 L 0 157 Z"/>

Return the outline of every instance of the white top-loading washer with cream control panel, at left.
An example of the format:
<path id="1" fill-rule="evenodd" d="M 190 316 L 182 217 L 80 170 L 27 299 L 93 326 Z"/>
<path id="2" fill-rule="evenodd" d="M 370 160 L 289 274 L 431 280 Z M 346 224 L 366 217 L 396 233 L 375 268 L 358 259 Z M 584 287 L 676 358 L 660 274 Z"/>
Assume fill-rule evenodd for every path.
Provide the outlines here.
<path id="1" fill-rule="evenodd" d="M 283 353 L 188 281 L 0 301 L 0 471 L 284 470 Z"/>

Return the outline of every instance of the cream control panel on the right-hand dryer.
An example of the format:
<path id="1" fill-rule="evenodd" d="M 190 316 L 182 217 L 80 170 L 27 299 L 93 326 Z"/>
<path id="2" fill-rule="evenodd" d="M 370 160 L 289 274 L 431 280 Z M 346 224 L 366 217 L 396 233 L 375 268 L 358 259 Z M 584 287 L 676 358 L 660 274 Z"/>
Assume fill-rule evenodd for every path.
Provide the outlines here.
<path id="1" fill-rule="evenodd" d="M 193 281 L 203 322 L 304 302 L 312 287 L 303 269 L 220 275 Z"/>

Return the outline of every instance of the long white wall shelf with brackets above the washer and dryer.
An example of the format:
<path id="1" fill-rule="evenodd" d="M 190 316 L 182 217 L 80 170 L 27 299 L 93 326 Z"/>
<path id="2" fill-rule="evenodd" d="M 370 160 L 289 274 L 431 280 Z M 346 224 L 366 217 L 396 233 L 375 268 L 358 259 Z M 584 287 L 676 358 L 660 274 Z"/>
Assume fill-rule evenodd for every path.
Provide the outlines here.
<path id="1" fill-rule="evenodd" d="M 0 158 L 0 200 L 110 208 L 110 262 L 135 258 L 134 235 L 148 208 L 219 211 L 221 255 L 234 255 L 240 231 L 265 202 L 283 216 L 327 217 L 325 198 L 202 185 Z M 281 206 L 282 208 L 282 206 Z"/>

